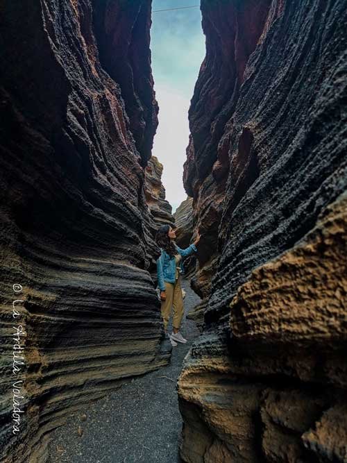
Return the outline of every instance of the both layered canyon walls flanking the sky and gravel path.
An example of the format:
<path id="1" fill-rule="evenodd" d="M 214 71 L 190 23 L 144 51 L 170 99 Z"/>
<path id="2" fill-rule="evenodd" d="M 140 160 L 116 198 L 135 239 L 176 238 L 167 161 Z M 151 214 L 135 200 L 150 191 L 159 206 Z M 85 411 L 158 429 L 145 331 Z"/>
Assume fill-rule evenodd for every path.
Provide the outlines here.
<path id="1" fill-rule="evenodd" d="M 201 12 L 173 215 L 151 157 L 151 0 L 1 6 L 1 462 L 49 461 L 69 414 L 169 363 L 162 224 L 182 247 L 201 233 L 183 461 L 347 462 L 346 1 Z"/>

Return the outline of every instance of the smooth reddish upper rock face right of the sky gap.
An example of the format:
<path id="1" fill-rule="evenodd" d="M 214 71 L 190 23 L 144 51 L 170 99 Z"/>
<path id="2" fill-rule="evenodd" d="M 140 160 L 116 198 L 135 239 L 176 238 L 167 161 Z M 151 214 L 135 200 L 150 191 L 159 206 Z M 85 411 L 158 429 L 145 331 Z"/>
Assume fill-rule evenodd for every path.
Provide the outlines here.
<path id="1" fill-rule="evenodd" d="M 189 123 L 192 139 L 185 176 L 188 194 L 196 197 L 201 180 L 214 168 L 220 180 L 228 175 L 228 144 L 218 146 L 235 110 L 244 69 L 264 30 L 271 0 L 201 1 L 206 57 L 196 82 Z M 194 156 L 194 167 L 189 160 Z M 220 182 L 219 182 L 220 183 Z M 194 192 L 194 194 L 192 194 Z"/>

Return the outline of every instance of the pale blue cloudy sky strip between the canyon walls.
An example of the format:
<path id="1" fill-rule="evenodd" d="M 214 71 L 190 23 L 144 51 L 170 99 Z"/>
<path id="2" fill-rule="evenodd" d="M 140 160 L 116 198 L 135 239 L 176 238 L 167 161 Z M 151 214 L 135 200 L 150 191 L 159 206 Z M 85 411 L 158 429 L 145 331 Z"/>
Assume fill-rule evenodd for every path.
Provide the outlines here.
<path id="1" fill-rule="evenodd" d="M 188 109 L 205 57 L 200 8 L 155 12 L 198 5 L 199 0 L 153 0 L 151 55 L 159 126 L 153 151 L 164 170 L 162 183 L 173 212 L 187 198 L 183 163 L 189 141 Z"/>

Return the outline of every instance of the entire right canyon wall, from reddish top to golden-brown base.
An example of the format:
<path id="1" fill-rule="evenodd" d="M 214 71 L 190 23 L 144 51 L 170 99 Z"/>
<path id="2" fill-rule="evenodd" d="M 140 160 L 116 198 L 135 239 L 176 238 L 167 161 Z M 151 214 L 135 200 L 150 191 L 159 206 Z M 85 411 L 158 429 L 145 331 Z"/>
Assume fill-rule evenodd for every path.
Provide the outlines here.
<path id="1" fill-rule="evenodd" d="M 201 10 L 184 180 L 207 292 L 181 456 L 346 462 L 344 1 Z"/>

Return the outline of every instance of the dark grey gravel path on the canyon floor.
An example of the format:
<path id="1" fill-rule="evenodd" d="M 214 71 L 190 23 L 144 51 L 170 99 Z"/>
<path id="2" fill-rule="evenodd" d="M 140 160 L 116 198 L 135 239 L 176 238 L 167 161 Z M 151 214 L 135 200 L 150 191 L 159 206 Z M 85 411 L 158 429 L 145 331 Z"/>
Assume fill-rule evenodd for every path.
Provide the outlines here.
<path id="1" fill-rule="evenodd" d="M 182 283 L 187 314 L 200 298 L 190 289 L 188 280 Z M 184 319 L 181 332 L 188 342 L 178 343 L 172 349 L 167 367 L 129 380 L 116 392 L 71 415 L 64 426 L 55 430 L 51 435 L 49 462 L 180 462 L 178 444 L 182 419 L 176 380 L 198 330 L 194 321 Z M 158 376 L 167 376 L 173 381 Z"/>

